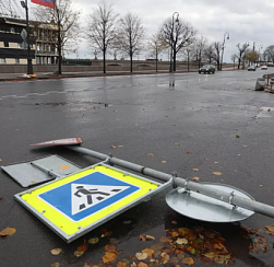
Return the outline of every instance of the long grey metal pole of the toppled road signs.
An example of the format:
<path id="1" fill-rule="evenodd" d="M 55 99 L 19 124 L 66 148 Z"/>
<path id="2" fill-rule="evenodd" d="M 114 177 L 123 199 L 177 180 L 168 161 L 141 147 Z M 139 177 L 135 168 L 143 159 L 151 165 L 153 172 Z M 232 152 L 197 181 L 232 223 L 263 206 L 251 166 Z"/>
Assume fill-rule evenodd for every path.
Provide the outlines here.
<path id="1" fill-rule="evenodd" d="M 141 173 L 141 174 L 154 177 L 154 178 L 158 178 L 160 181 L 167 182 L 172 177 L 170 174 L 166 174 L 166 173 L 155 171 L 150 167 L 145 167 L 142 165 L 138 165 L 138 164 L 128 162 L 128 161 L 112 158 L 112 156 L 109 156 L 109 155 L 106 155 L 106 154 L 103 154 L 103 153 L 99 153 L 99 152 L 96 152 L 96 151 L 93 151 L 90 149 L 85 149 L 82 147 L 65 146 L 65 148 L 73 150 L 73 151 L 76 151 L 79 153 L 91 155 L 93 158 L 96 158 L 96 159 L 99 159 L 103 161 L 108 160 L 110 164 L 126 167 L 131 171 Z M 218 199 L 221 201 L 224 201 L 224 202 L 227 202 L 227 204 L 230 204 L 234 206 L 238 206 L 238 207 L 241 207 L 241 208 L 245 208 L 245 209 L 274 218 L 274 207 L 272 207 L 272 206 L 269 206 L 269 205 L 265 205 L 262 202 L 258 202 L 255 200 L 251 200 L 248 198 L 239 197 L 239 196 L 234 195 L 233 193 L 229 194 L 229 193 L 226 193 L 223 190 L 213 189 L 213 188 L 205 186 L 203 184 L 194 183 L 194 182 L 181 178 L 181 177 L 174 177 L 174 184 L 178 187 L 184 188 L 186 190 L 192 190 L 192 191 L 209 196 L 211 198 Z"/>

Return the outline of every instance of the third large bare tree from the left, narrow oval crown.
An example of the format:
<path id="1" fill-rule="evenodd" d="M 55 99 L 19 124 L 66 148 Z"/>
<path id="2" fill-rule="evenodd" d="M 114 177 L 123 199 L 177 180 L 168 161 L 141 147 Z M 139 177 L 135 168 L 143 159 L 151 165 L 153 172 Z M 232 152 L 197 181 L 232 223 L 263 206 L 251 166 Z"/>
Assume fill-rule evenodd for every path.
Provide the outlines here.
<path id="1" fill-rule="evenodd" d="M 119 21 L 116 46 L 130 57 L 130 72 L 132 72 L 133 56 L 144 46 L 144 28 L 141 19 L 128 12 Z"/>

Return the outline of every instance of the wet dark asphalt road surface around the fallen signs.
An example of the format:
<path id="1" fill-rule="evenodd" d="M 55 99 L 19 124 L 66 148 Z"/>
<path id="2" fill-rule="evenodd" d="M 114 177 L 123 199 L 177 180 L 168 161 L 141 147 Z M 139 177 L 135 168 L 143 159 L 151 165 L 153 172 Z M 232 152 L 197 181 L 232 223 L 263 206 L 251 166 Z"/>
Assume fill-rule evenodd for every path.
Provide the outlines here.
<path id="1" fill-rule="evenodd" d="M 82 167 L 97 163 L 63 148 L 29 147 L 80 137 L 85 148 L 165 173 L 177 171 L 183 178 L 195 176 L 201 182 L 228 184 L 274 206 L 274 95 L 254 91 L 257 78 L 272 71 L 2 82 L 0 163 L 48 154 L 59 154 Z M 273 225 L 273 219 L 254 214 L 239 223 L 200 222 L 167 206 L 165 195 L 170 189 L 102 227 L 112 232 L 124 258 L 140 251 L 140 234 L 157 240 L 166 229 L 175 228 L 171 222 L 176 221 L 176 228 L 203 227 L 219 232 L 235 255 L 235 266 L 272 266 L 274 237 L 265 233 L 264 227 Z M 109 237 L 90 245 L 80 258 L 74 251 L 88 239 L 99 236 L 102 228 L 67 244 L 14 200 L 13 196 L 23 190 L 0 172 L 0 231 L 16 229 L 14 235 L 0 239 L 1 266 L 99 263 Z M 247 237 L 245 228 L 258 229 L 266 237 L 267 252 L 249 251 L 257 236 Z M 52 256 L 50 251 L 56 247 L 63 252 Z M 193 266 L 205 266 L 195 257 L 194 260 Z"/>

